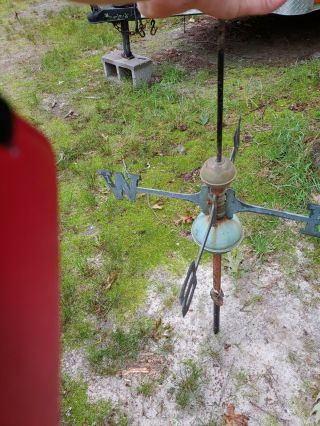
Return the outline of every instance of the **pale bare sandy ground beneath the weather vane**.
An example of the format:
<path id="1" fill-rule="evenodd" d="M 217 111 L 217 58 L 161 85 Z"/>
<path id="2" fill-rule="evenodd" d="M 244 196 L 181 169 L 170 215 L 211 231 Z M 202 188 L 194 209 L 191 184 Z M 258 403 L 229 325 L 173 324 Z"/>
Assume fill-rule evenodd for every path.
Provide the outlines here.
<path id="1" fill-rule="evenodd" d="M 170 309 L 165 303 L 182 280 L 165 269 L 155 271 L 141 313 L 170 325 L 171 350 L 164 352 L 160 339 L 135 364 L 146 366 L 147 358 L 148 372 L 131 374 L 134 369 L 129 368 L 116 377 L 93 374 L 84 351 L 71 351 L 64 355 L 64 373 L 84 378 L 91 401 L 111 400 L 121 406 L 134 426 L 205 425 L 210 419 L 220 424 L 230 403 L 249 417 L 249 425 L 307 424 L 313 389 L 320 384 L 320 277 L 304 278 L 310 265 L 303 250 L 297 248 L 296 262 L 287 273 L 276 258 L 263 264 L 250 254 L 239 279 L 224 274 L 218 336 L 212 332 L 211 269 L 199 269 L 192 309 L 184 319 L 177 300 Z M 165 286 L 164 293 L 157 290 L 159 284 Z M 253 300 L 257 302 L 250 304 Z M 182 410 L 175 395 L 186 359 L 202 366 L 205 374 L 199 398 Z M 138 395 L 137 386 L 164 366 L 168 370 L 155 394 Z"/>

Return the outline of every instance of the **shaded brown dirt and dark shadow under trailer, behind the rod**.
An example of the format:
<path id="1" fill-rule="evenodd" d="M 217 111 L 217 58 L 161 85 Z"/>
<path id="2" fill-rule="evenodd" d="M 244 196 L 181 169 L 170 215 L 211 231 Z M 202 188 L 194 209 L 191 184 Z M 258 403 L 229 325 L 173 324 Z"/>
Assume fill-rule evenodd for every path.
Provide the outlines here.
<path id="1" fill-rule="evenodd" d="M 299 17 L 268 15 L 227 24 L 227 62 L 285 65 L 320 57 L 320 13 Z M 197 18 L 176 32 L 174 46 L 152 55 L 155 61 L 178 63 L 187 69 L 209 67 L 216 61 L 217 21 Z M 168 40 L 169 41 L 169 40 Z M 169 43 L 172 45 L 172 39 Z M 164 40 L 163 45 L 168 45 Z M 187 53 L 187 55 L 186 55 Z"/>

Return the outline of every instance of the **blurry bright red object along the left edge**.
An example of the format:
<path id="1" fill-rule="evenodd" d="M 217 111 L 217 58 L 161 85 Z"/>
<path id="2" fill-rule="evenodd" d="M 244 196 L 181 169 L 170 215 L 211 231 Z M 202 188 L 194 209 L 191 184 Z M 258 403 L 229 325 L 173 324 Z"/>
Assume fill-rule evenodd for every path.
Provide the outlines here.
<path id="1" fill-rule="evenodd" d="M 12 146 L 0 146 L 0 424 L 56 426 L 55 160 L 46 139 L 17 116 L 13 133 Z"/>

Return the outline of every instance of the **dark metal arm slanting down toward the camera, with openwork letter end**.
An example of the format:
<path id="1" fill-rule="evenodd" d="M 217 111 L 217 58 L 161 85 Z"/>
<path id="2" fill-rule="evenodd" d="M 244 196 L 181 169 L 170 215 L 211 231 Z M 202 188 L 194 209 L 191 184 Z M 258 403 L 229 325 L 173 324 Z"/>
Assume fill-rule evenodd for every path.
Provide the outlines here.
<path id="1" fill-rule="evenodd" d="M 201 244 L 201 247 L 198 251 L 197 258 L 189 266 L 187 276 L 186 276 L 184 283 L 182 285 L 182 288 L 181 288 L 179 300 L 180 300 L 180 304 L 182 306 L 182 315 L 183 316 L 185 316 L 187 314 L 187 312 L 189 311 L 189 308 L 190 308 L 190 305 L 191 305 L 191 302 L 192 302 L 192 299 L 193 299 L 194 291 L 195 291 L 197 283 L 198 283 L 197 269 L 199 267 L 200 260 L 201 260 L 201 257 L 203 255 L 203 252 L 205 250 L 206 242 L 207 242 L 209 234 L 212 230 L 212 227 L 216 226 L 216 223 L 217 223 L 217 217 L 216 216 L 217 216 L 217 206 L 216 206 L 216 203 L 214 202 L 210 216 L 208 217 L 208 223 L 207 223 L 207 228 L 206 228 L 206 231 L 205 231 L 205 236 L 204 236 L 203 242 Z"/>

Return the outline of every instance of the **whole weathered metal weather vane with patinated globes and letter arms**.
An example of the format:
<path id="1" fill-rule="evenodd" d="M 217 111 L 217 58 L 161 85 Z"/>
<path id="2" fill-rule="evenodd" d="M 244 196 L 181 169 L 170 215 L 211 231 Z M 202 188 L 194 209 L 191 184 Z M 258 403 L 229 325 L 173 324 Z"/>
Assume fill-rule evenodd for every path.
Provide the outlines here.
<path id="1" fill-rule="evenodd" d="M 191 234 L 194 241 L 200 246 L 196 259 L 189 266 L 187 276 L 180 292 L 182 315 L 185 316 L 190 308 L 197 286 L 197 269 L 202 254 L 208 251 L 213 254 L 213 288 L 210 292 L 214 306 L 214 333 L 220 328 L 220 307 L 223 305 L 223 291 L 221 288 L 221 257 L 238 246 L 243 239 L 243 229 L 236 213 L 250 212 L 255 214 L 276 216 L 296 222 L 303 222 L 305 227 L 301 233 L 320 238 L 320 205 L 309 204 L 309 215 L 278 211 L 254 206 L 241 202 L 230 188 L 237 172 L 234 161 L 240 145 L 240 124 L 234 134 L 234 146 L 230 158 L 224 157 L 222 152 L 223 127 L 223 88 L 224 88 L 224 46 L 225 22 L 220 21 L 218 26 L 218 79 L 217 79 L 217 152 L 209 158 L 200 170 L 202 181 L 201 190 L 193 194 L 163 191 L 153 188 L 139 187 L 139 175 L 128 174 L 127 180 L 122 173 L 101 170 L 98 173 L 105 179 L 118 200 L 127 196 L 135 201 L 138 193 L 156 195 L 189 201 L 198 205 L 202 212 L 195 219 Z"/>

